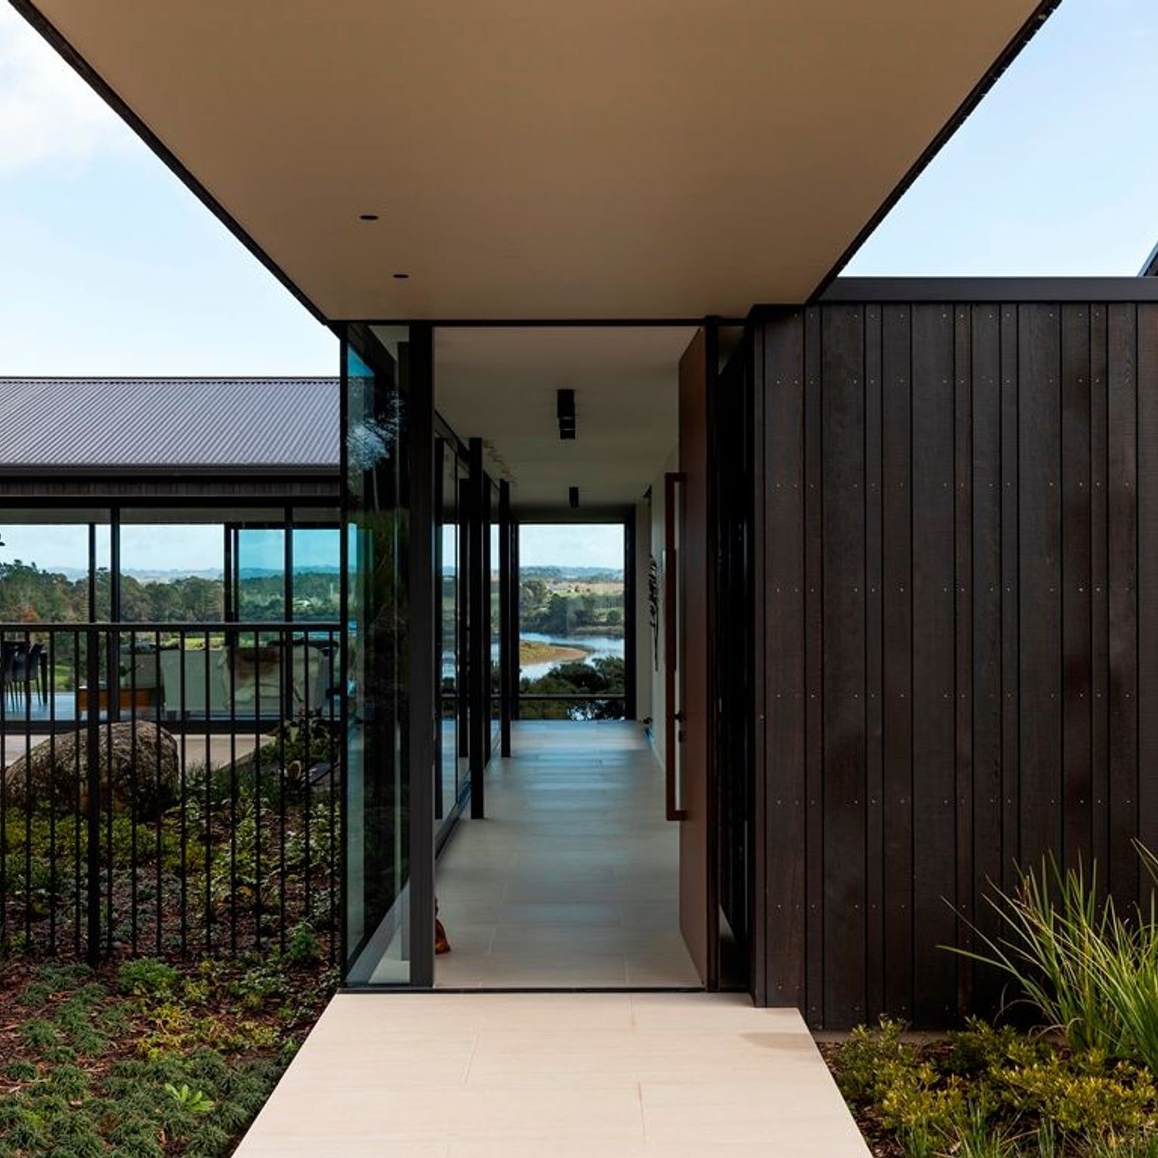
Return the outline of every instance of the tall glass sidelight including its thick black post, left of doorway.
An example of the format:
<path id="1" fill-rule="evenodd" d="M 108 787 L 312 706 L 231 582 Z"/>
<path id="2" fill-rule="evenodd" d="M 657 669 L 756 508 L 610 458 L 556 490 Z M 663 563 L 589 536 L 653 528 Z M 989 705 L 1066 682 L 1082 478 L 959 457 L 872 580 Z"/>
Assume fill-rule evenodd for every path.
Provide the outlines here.
<path id="1" fill-rule="evenodd" d="M 343 343 L 345 980 L 434 973 L 435 534 L 430 329 Z"/>

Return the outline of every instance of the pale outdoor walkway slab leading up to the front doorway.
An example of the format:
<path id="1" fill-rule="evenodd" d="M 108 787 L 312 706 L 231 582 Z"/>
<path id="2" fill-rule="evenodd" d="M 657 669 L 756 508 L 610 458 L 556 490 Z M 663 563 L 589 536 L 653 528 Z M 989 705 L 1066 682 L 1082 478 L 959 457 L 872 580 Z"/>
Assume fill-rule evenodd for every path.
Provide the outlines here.
<path id="1" fill-rule="evenodd" d="M 716 994 L 346 994 L 239 1158 L 867 1158 L 794 1010 Z"/>

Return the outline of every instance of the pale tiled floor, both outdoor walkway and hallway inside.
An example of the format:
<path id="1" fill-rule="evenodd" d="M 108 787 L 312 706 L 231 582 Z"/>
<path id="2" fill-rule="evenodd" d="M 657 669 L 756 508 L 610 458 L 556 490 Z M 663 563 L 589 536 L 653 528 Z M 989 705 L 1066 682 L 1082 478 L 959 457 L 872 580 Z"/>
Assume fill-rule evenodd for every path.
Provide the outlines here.
<path id="1" fill-rule="evenodd" d="M 868 1158 L 796 1010 L 695 985 L 677 833 L 630 724 L 519 727 L 439 862 L 440 985 L 344 994 L 239 1158 Z"/>

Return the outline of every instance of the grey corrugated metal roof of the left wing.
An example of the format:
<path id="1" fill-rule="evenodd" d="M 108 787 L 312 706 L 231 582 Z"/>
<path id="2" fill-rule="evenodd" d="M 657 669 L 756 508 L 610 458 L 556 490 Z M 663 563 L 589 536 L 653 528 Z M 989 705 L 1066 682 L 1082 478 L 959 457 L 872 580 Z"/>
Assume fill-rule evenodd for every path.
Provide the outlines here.
<path id="1" fill-rule="evenodd" d="M 0 470 L 338 468 L 336 378 L 0 379 Z"/>

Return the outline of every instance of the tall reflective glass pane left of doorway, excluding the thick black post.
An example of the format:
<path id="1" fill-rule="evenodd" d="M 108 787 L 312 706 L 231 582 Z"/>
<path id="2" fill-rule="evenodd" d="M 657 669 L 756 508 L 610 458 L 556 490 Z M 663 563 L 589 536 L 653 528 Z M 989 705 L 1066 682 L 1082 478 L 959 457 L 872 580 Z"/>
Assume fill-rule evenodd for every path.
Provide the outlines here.
<path id="1" fill-rule="evenodd" d="M 346 981 L 405 984 L 409 735 L 404 328 L 346 350 Z"/>

